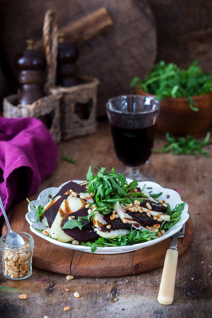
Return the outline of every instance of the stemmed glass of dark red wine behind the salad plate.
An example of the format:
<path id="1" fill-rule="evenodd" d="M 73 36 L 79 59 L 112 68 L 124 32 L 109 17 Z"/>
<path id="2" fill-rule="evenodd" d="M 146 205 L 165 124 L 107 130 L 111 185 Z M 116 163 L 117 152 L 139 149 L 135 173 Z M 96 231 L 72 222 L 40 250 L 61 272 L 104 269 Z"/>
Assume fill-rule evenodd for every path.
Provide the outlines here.
<path id="1" fill-rule="evenodd" d="M 106 111 L 116 156 L 129 167 L 126 176 L 154 181 L 154 177 L 141 174 L 139 167 L 152 154 L 160 102 L 150 96 L 123 95 L 109 99 Z"/>

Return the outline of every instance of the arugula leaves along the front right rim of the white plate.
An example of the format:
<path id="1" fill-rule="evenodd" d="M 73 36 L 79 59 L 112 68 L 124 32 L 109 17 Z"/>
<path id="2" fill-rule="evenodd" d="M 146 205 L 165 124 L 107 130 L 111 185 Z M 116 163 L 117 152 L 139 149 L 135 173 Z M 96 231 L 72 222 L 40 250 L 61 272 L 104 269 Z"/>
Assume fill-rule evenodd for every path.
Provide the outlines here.
<path id="1" fill-rule="evenodd" d="M 183 207 L 185 205 L 185 202 L 180 203 L 175 206 L 175 208 L 171 211 L 170 205 L 168 204 L 167 207 L 167 213 L 170 215 L 170 221 L 167 222 L 165 225 L 165 221 L 162 223 L 159 231 L 164 230 L 168 231 L 168 229 L 177 223 L 177 221 L 180 219 L 181 212 L 183 210 Z M 131 232 L 129 232 L 125 236 L 119 235 L 115 239 L 106 239 L 106 238 L 99 238 L 95 242 L 87 242 L 87 243 L 81 243 L 83 246 L 91 246 L 91 252 L 95 252 L 97 247 L 103 247 L 103 246 L 125 246 L 125 245 L 133 245 L 137 243 L 143 243 L 146 241 L 150 241 L 152 239 L 157 239 L 156 236 L 157 233 L 152 233 L 145 230 L 133 230 L 131 228 Z"/>

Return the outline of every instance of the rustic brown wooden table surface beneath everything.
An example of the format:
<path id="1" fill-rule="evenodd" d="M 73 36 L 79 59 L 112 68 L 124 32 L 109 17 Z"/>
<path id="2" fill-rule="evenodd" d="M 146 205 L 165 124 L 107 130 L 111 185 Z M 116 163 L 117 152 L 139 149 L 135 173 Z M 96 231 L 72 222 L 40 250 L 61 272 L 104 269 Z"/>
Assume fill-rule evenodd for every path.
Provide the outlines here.
<path id="1" fill-rule="evenodd" d="M 155 148 L 164 144 L 164 140 L 156 138 Z M 92 169 L 103 166 L 109 171 L 114 166 L 117 172 L 125 171 L 114 155 L 105 121 L 99 122 L 97 134 L 61 142 L 58 149 L 58 165 L 38 193 L 66 180 L 85 179 L 89 165 Z M 212 146 L 209 152 L 212 155 Z M 78 162 L 63 161 L 62 155 L 78 158 Z M 3 276 L 1 264 L 1 317 L 211 317 L 211 158 L 153 154 L 145 171 L 154 175 L 163 187 L 180 193 L 182 200 L 188 203 L 194 224 L 192 243 L 178 259 L 173 304 L 166 306 L 157 302 L 162 267 L 137 275 L 75 277 L 69 281 L 65 275 L 33 267 L 28 279 L 13 281 Z M 79 292 L 80 298 L 75 298 L 74 292 Z M 21 300 L 19 294 L 27 294 L 28 298 Z M 70 306 L 70 310 L 63 311 L 65 306 Z"/>

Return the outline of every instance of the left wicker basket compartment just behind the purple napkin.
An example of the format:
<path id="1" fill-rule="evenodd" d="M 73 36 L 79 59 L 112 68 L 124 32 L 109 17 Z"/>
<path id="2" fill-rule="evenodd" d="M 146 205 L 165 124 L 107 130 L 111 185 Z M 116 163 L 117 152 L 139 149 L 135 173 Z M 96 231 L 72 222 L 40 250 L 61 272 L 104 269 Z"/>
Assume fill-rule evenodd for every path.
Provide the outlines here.
<path id="1" fill-rule="evenodd" d="M 55 142 L 60 142 L 60 106 L 59 100 L 62 94 L 44 96 L 36 100 L 31 105 L 14 106 L 17 100 L 17 94 L 10 95 L 3 100 L 3 116 L 6 118 L 35 117 L 39 118 L 45 115 L 51 120 L 50 133 Z M 50 118 L 51 117 L 51 118 Z"/>

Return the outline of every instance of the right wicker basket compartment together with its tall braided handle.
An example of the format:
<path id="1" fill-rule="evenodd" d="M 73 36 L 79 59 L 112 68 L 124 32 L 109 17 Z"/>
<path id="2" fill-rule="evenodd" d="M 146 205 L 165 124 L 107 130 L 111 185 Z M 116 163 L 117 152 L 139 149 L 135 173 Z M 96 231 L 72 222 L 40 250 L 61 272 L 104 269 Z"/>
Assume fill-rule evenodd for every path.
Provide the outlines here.
<path id="1" fill-rule="evenodd" d="M 52 11 L 47 11 L 43 29 L 44 49 L 48 66 L 48 87 L 46 88 L 53 94 L 63 94 L 60 101 L 60 128 L 62 139 L 67 140 L 92 134 L 96 131 L 97 86 L 99 80 L 96 78 L 81 77 L 86 83 L 72 87 L 55 86 L 58 53 L 58 29 L 56 21 L 56 14 Z M 76 107 L 79 104 L 81 104 L 81 107 L 87 107 L 86 104 L 88 102 L 90 102 L 89 116 L 82 119 L 77 113 Z"/>

